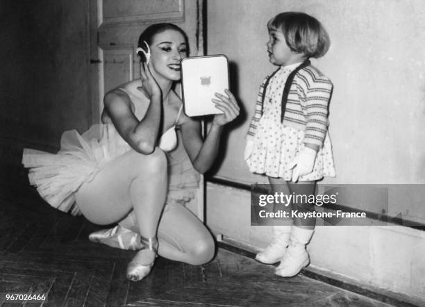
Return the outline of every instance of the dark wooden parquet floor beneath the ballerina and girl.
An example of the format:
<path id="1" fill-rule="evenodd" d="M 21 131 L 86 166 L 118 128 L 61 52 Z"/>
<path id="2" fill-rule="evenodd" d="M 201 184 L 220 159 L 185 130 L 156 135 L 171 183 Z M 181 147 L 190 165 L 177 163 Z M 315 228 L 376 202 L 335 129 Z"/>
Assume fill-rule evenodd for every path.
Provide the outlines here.
<path id="1" fill-rule="evenodd" d="M 5 294 L 43 293 L 42 306 L 390 306 L 219 249 L 203 266 L 158 257 L 151 274 L 126 280 L 133 251 L 88 241 L 99 229 L 47 206 L 33 191 L 0 194 L 0 304 Z M 22 304 L 40 306 L 41 304 Z"/>

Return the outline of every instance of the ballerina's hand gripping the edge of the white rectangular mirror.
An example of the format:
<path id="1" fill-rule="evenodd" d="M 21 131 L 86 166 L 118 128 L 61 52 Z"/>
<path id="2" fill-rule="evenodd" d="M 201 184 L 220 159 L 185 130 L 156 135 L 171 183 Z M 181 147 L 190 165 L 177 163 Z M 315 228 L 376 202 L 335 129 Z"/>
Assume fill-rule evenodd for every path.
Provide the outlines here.
<path id="1" fill-rule="evenodd" d="M 223 111 L 222 114 L 216 114 L 214 116 L 213 124 L 217 126 L 223 126 L 233 121 L 240 113 L 238 102 L 236 102 L 231 91 L 224 90 L 224 92 L 227 94 L 227 97 L 223 94 L 215 93 L 215 97 L 218 99 L 211 99 L 215 103 L 215 108 Z"/>

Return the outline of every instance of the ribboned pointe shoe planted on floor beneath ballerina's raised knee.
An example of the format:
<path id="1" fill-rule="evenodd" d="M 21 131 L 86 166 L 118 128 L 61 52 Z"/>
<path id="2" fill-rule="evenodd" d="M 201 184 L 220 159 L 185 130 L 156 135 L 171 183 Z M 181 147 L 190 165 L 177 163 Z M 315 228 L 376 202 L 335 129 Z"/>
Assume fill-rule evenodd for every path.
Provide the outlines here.
<path id="1" fill-rule="evenodd" d="M 142 235 L 140 235 L 140 242 L 142 243 L 143 247 L 140 251 L 138 251 L 138 253 L 147 249 L 153 251 L 153 253 L 155 253 L 156 258 L 158 252 L 158 240 L 156 240 L 156 237 L 144 238 L 142 237 Z M 153 258 L 151 263 L 139 263 L 138 259 L 136 259 L 137 256 L 138 255 L 136 255 L 133 260 L 128 263 L 127 266 L 127 278 L 131 281 L 141 281 L 142 279 L 144 279 L 144 277 L 151 272 L 153 263 L 155 262 L 155 258 Z"/>

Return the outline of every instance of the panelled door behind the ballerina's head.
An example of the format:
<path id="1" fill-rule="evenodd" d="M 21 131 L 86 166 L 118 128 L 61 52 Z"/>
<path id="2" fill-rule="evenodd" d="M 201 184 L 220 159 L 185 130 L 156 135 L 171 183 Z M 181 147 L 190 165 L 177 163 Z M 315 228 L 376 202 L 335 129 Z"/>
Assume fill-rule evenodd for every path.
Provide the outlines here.
<path id="1" fill-rule="evenodd" d="M 151 24 L 171 22 L 183 28 L 190 55 L 203 54 L 202 0 L 90 0 L 90 63 L 92 122 L 99 123 L 103 96 L 117 85 L 140 76 L 139 35 Z M 203 187 L 203 179 L 200 187 Z M 191 208 L 203 219 L 203 188 Z"/>

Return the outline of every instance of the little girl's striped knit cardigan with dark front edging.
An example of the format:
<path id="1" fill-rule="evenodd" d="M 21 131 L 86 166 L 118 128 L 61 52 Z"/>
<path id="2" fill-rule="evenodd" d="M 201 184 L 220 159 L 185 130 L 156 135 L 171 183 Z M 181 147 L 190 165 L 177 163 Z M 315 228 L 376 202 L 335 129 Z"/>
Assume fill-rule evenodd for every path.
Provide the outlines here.
<path id="1" fill-rule="evenodd" d="M 255 136 L 258 122 L 263 115 L 265 85 L 270 77 L 267 76 L 260 86 L 247 140 L 252 140 Z M 288 99 L 282 102 L 285 103 L 283 124 L 304 131 L 304 143 L 322 147 L 328 129 L 328 104 L 332 89 L 331 80 L 313 65 L 302 67 L 294 74 Z"/>

